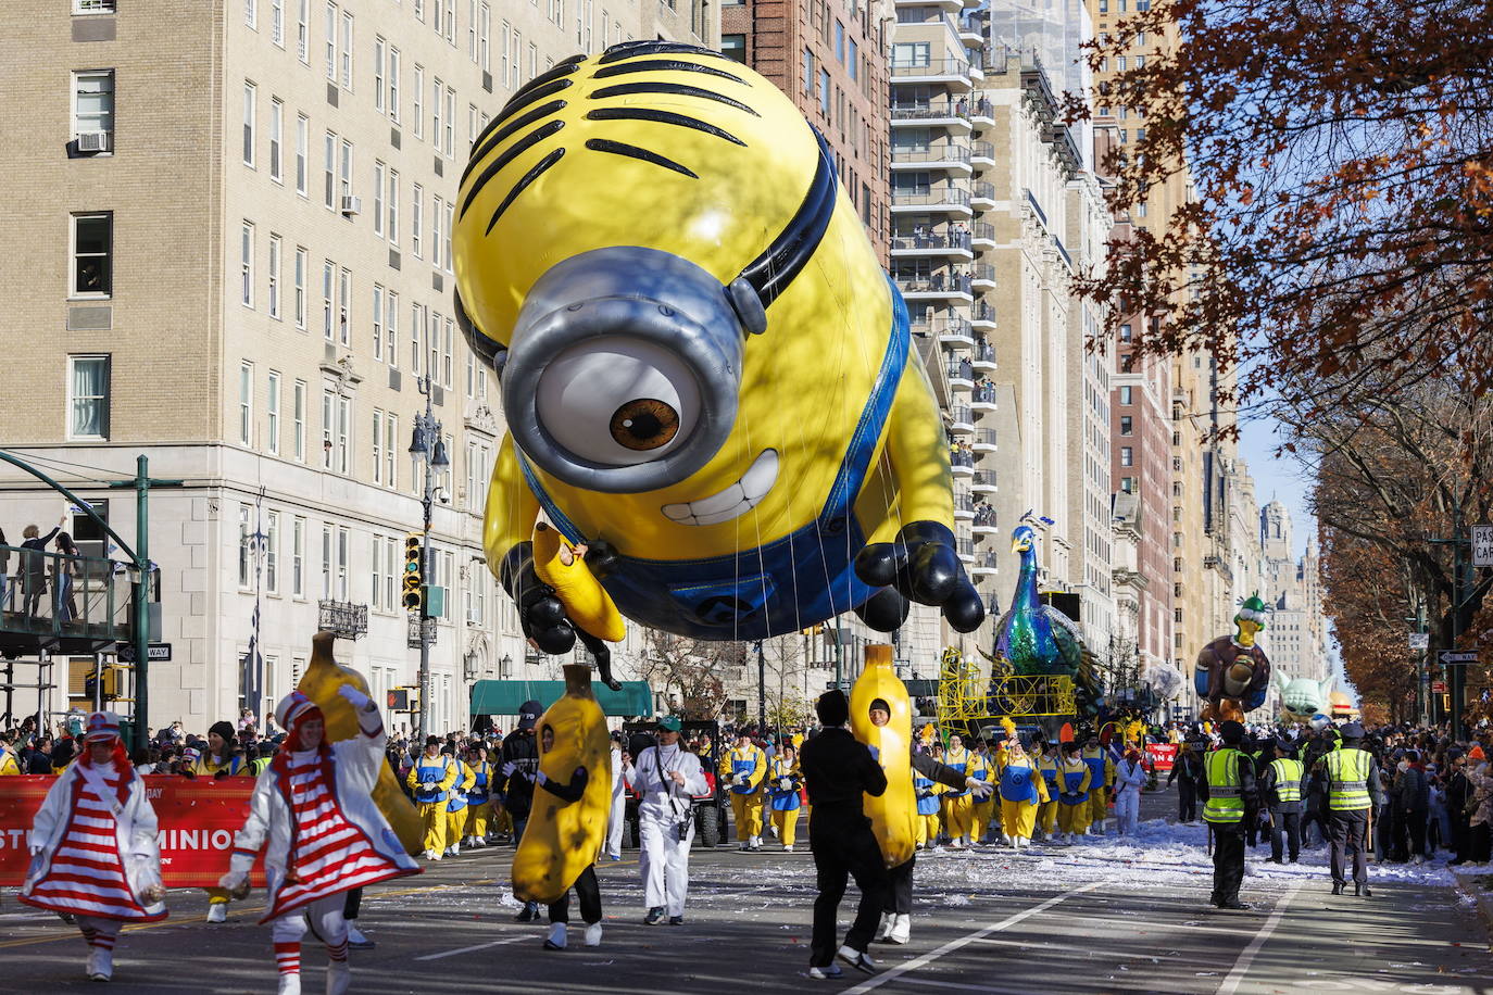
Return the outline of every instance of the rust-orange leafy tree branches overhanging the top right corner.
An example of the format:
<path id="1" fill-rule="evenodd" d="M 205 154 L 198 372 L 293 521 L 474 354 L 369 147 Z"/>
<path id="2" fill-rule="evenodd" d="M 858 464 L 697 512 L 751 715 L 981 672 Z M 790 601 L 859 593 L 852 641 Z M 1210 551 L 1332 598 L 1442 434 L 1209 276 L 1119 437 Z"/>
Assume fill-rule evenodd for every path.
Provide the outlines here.
<path id="1" fill-rule="evenodd" d="M 1136 346 L 1205 349 L 1250 397 L 1315 416 L 1341 389 L 1493 385 L 1493 0 L 1175 0 L 1123 19 L 1175 37 L 1099 103 L 1145 118 L 1111 206 L 1182 169 L 1196 198 L 1111 246 L 1078 289 L 1147 313 Z M 1072 118 L 1087 116 L 1070 97 Z"/>

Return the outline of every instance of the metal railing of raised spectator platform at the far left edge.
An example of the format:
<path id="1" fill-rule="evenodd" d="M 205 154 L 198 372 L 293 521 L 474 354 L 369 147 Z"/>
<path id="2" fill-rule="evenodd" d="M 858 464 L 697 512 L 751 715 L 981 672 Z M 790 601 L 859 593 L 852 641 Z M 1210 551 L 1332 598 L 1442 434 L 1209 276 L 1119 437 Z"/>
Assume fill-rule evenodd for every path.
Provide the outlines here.
<path id="1" fill-rule="evenodd" d="M 124 564 L 0 546 L 0 641 L 30 655 L 36 640 L 106 643 L 130 637 L 131 585 Z"/>

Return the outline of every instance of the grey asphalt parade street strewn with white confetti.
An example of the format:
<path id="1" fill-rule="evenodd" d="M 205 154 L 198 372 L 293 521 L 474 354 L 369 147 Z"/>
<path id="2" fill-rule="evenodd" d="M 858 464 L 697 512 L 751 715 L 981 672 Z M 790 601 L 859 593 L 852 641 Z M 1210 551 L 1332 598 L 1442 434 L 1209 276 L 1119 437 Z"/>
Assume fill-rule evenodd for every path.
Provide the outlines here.
<path id="1" fill-rule="evenodd" d="M 1147 798 L 1147 816 L 1171 795 Z M 802 846 L 802 844 L 800 844 Z M 370 891 L 360 926 L 378 941 L 352 953 L 357 992 L 781 992 L 806 976 L 814 864 L 806 852 L 696 850 L 684 926 L 643 926 L 636 852 L 599 868 L 606 934 L 599 949 L 545 952 L 542 925 L 512 922 L 511 850 L 487 849 Z M 1493 991 L 1489 935 L 1444 868 L 1372 868 L 1372 900 L 1332 898 L 1324 849 L 1297 867 L 1250 853 L 1254 911 L 1206 904 L 1202 828 L 1147 822 L 1044 856 L 1003 849 L 920 858 L 912 941 L 876 944 L 882 973 L 824 985 L 850 992 L 1420 992 Z M 854 891 L 851 892 L 854 895 Z M 0 991 L 88 986 L 73 928 L 25 910 L 6 889 Z M 112 991 L 264 992 L 275 983 L 258 895 L 227 925 L 203 923 L 206 898 L 178 892 L 172 917 L 119 940 Z M 848 905 L 842 907 L 844 916 Z M 572 916 L 576 916 L 572 907 Z M 306 946 L 305 986 L 324 955 Z"/>

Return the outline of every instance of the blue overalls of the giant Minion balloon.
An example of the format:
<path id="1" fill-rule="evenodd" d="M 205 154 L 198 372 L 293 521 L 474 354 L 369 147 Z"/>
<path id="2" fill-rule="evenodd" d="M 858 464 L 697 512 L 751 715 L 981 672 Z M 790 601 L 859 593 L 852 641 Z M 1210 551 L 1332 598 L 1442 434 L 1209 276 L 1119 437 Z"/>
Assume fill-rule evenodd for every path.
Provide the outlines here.
<path id="1" fill-rule="evenodd" d="M 855 555 L 864 547 L 866 536 L 855 521 L 854 506 L 891 413 L 911 346 L 908 307 L 896 285 L 888 280 L 888 286 L 891 330 L 887 349 L 818 516 L 782 539 L 724 556 L 620 556 L 602 586 L 623 615 L 676 635 L 755 640 L 835 618 L 875 594 L 875 588 L 855 576 Z M 545 491 L 523 452 L 518 452 L 518 465 L 554 527 L 573 543 L 588 539 Z M 794 486 L 794 482 L 782 480 L 779 486 Z"/>

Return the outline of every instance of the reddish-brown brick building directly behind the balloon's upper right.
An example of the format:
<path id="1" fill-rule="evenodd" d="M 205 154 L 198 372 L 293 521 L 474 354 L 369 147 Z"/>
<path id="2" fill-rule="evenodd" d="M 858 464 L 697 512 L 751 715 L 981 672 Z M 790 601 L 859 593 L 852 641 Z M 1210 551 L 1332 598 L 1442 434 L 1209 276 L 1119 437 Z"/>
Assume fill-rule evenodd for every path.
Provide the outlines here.
<path id="1" fill-rule="evenodd" d="M 835 151 L 887 264 L 887 30 L 891 0 L 727 0 L 721 52 L 770 79 Z"/>

